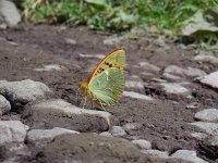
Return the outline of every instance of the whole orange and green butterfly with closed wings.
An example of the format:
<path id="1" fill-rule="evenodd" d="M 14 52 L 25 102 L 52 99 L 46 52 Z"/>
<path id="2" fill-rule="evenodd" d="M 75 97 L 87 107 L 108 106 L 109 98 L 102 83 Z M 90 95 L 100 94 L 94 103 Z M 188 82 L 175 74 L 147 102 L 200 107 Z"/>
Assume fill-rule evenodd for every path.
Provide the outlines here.
<path id="1" fill-rule="evenodd" d="M 83 108 L 87 98 L 101 105 L 102 109 L 120 100 L 124 90 L 124 64 L 123 49 L 110 52 L 100 61 L 87 80 L 80 84 L 85 96 Z"/>

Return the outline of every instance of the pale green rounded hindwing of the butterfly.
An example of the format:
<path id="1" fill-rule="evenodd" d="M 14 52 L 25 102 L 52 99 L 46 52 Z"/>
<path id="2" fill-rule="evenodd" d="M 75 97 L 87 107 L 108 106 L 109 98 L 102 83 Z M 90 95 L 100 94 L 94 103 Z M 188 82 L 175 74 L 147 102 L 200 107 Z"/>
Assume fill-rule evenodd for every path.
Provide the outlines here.
<path id="1" fill-rule="evenodd" d="M 111 105 L 119 101 L 124 89 L 123 73 L 111 67 L 94 77 L 89 83 L 90 96 L 100 105 Z"/>

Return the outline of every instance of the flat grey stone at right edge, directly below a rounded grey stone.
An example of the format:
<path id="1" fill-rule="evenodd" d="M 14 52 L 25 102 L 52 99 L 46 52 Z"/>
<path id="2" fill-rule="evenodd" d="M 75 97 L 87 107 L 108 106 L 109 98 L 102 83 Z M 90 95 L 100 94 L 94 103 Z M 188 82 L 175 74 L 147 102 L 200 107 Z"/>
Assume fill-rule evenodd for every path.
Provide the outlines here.
<path id="1" fill-rule="evenodd" d="M 197 127 L 197 129 L 203 130 L 209 135 L 218 135 L 218 124 L 217 123 L 207 123 L 207 122 L 194 122 L 190 123 L 191 126 Z"/>

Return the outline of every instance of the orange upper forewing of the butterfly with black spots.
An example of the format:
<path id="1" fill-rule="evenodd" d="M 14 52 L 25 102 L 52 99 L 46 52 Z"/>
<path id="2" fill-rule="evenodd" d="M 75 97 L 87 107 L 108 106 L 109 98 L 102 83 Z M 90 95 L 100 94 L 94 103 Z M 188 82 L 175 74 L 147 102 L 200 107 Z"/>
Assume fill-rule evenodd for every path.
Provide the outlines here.
<path id="1" fill-rule="evenodd" d="M 117 49 L 101 60 L 101 62 L 88 76 L 87 83 L 89 83 L 93 77 L 97 76 L 98 74 L 111 67 L 116 67 L 123 73 L 124 64 L 125 64 L 125 52 L 123 49 Z"/>

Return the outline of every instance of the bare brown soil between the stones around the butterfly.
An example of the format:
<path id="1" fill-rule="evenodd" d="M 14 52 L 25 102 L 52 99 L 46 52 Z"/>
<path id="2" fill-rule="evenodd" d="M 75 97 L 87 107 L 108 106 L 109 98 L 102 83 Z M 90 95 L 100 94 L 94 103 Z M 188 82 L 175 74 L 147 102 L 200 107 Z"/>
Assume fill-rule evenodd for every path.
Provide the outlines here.
<path id="1" fill-rule="evenodd" d="M 192 83 L 189 87 L 193 99 L 168 95 L 155 87 L 153 77 L 142 75 L 144 70 L 135 65 L 144 61 L 164 70 L 174 64 L 184 68 L 197 67 L 206 73 L 214 72 L 218 65 L 193 62 L 195 49 L 182 48 L 168 39 L 165 39 L 168 48 L 159 46 L 157 38 L 152 36 L 142 36 L 136 40 L 125 39 L 121 43 L 109 47 L 102 43 L 107 37 L 86 27 L 24 25 L 19 29 L 0 30 L 0 79 L 38 80 L 48 85 L 56 92 L 57 98 L 78 105 L 77 86 L 87 78 L 89 70 L 99 62 L 99 59 L 81 58 L 80 54 L 107 54 L 116 48 L 124 48 L 128 64 L 126 78 L 137 75 L 148 84 L 144 89 L 132 90 L 149 95 L 156 100 L 150 102 L 123 97 L 119 104 L 106 109 L 117 118 L 114 124 L 121 126 L 129 122 L 143 124 L 141 129 L 130 131 L 126 138 L 147 139 L 153 142 L 154 149 L 167 150 L 170 153 L 178 149 L 197 150 L 198 142 L 190 137 L 190 131 L 184 125 L 194 122 L 194 114 L 197 111 L 218 108 L 218 93 L 186 78 Z M 76 45 L 66 43 L 65 38 L 75 39 Z M 46 64 L 59 64 L 65 68 L 61 72 L 34 71 Z M 155 77 L 162 78 L 161 71 L 156 73 Z M 185 109 L 193 102 L 198 103 L 199 108 Z"/>

